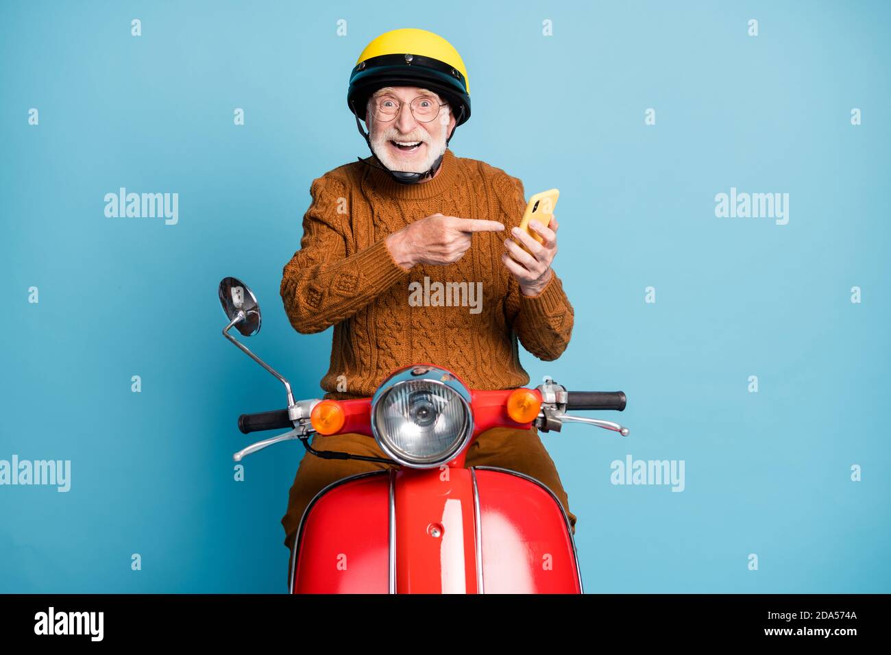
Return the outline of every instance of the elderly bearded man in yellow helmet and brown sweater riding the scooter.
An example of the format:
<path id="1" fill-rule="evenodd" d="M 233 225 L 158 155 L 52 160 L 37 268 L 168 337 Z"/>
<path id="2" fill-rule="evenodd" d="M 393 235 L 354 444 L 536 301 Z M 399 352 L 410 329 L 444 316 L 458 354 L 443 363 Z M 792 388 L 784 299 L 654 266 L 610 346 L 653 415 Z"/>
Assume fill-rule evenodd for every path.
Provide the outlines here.
<path id="1" fill-rule="evenodd" d="M 443 366 L 471 389 L 526 385 L 518 338 L 552 360 L 572 332 L 573 309 L 552 270 L 558 225 L 553 217 L 547 227 L 530 223 L 541 243 L 520 232 L 526 202 L 519 179 L 448 149 L 455 127 L 470 117 L 461 57 L 431 32 L 387 32 L 360 55 L 347 102 L 373 157 L 313 181 L 300 250 L 284 266 L 281 287 L 295 330 L 334 326 L 325 397 L 370 397 L 388 373 L 419 363 Z M 474 306 L 413 295 L 437 282 L 439 289 L 463 282 L 478 290 Z M 315 438 L 313 446 L 386 456 L 372 438 L 352 433 Z M 539 480 L 560 499 L 575 532 L 576 516 L 535 429 L 483 432 L 466 463 Z M 285 545 L 293 548 L 301 517 L 323 487 L 388 466 L 305 456 L 282 518 Z"/>

